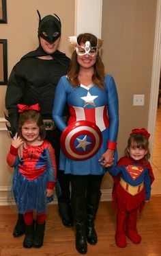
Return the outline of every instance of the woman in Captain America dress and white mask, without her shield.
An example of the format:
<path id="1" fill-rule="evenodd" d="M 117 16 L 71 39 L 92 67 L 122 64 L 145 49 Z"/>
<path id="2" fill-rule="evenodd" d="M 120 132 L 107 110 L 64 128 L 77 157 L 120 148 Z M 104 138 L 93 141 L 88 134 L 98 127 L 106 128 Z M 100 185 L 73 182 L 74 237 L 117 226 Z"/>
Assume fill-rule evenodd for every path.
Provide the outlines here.
<path id="1" fill-rule="evenodd" d="M 96 244 L 98 237 L 94 221 L 100 201 L 100 185 L 106 167 L 117 161 L 117 132 L 119 126 L 118 97 L 115 81 L 105 75 L 100 58 L 102 40 L 85 33 L 70 37 L 76 50 L 72 54 L 71 68 L 61 77 L 55 92 L 53 119 L 63 132 L 63 108 L 70 108 L 68 127 L 75 121 L 87 120 L 96 124 L 102 133 L 102 145 L 89 159 L 72 159 L 61 151 L 60 170 L 71 174 L 72 211 L 76 226 L 76 250 L 87 253 L 87 242 Z M 81 144 L 82 143 L 82 144 Z M 86 139 L 79 146 L 85 150 Z M 115 159 L 115 160 L 114 160 Z"/>

